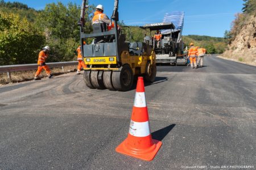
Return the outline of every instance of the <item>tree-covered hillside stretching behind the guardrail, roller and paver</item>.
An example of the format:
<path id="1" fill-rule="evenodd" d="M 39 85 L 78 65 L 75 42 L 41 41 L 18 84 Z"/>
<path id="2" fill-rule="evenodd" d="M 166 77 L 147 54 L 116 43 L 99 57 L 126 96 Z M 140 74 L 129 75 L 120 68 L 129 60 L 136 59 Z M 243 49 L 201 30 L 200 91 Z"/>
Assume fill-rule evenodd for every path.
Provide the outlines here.
<path id="1" fill-rule="evenodd" d="M 86 10 L 86 32 L 92 31 L 90 19 L 94 6 Z M 49 3 L 43 10 L 35 10 L 19 2 L 0 1 L 0 65 L 36 63 L 43 46 L 49 45 L 51 53 L 47 62 L 73 61 L 74 50 L 79 45 L 80 5 L 61 2 Z M 125 25 L 120 22 L 120 25 Z M 126 32 L 127 40 L 143 41 L 144 31 L 131 26 Z M 131 36 L 132 35 L 132 36 Z M 218 37 L 183 36 L 186 45 L 195 42 L 208 53 L 222 53 L 225 40 Z"/>

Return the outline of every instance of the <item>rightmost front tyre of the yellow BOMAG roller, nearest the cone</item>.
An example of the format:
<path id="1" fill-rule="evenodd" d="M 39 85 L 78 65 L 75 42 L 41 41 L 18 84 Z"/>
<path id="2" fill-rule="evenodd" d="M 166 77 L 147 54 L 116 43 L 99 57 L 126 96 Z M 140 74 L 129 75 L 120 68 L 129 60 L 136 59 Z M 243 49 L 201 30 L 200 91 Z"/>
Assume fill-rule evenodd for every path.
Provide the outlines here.
<path id="1" fill-rule="evenodd" d="M 113 71 L 112 82 L 115 90 L 130 90 L 133 85 L 133 79 L 133 70 L 129 65 L 123 65 L 121 71 Z"/>

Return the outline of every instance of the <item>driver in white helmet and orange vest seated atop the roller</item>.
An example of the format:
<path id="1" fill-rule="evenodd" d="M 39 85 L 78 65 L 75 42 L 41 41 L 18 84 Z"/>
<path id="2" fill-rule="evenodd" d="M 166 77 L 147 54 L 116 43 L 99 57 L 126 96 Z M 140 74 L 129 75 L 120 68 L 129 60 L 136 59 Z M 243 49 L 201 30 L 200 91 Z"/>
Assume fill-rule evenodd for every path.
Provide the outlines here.
<path id="1" fill-rule="evenodd" d="M 98 5 L 96 7 L 96 11 L 94 12 L 92 24 L 106 23 L 109 25 L 111 23 L 111 20 L 103 12 L 104 12 L 104 7 L 102 5 Z"/>

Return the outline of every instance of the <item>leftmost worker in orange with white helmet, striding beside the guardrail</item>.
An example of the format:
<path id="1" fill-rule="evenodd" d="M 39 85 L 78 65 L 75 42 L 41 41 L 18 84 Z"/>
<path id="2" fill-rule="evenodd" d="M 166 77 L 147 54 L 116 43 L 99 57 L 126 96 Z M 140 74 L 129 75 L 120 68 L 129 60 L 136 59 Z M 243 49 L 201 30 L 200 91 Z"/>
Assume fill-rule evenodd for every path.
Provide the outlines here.
<path id="1" fill-rule="evenodd" d="M 52 78 L 51 70 L 46 65 L 46 58 L 49 55 L 49 46 L 45 46 L 38 55 L 38 70 L 36 71 L 34 80 L 39 80 L 39 74 L 42 70 L 46 70 L 48 78 Z"/>

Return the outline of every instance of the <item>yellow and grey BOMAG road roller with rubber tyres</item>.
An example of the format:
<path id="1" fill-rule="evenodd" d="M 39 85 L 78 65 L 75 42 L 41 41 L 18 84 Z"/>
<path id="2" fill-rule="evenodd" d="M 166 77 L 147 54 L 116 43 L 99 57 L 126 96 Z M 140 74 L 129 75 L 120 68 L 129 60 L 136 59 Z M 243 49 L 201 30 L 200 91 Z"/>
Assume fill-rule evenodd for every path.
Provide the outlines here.
<path id="1" fill-rule="evenodd" d="M 129 91 L 136 76 L 143 76 L 147 82 L 154 82 L 156 57 L 151 46 L 144 42 L 126 40 L 126 31 L 118 25 L 118 0 L 114 1 L 111 16 L 112 29 L 105 23 L 93 24 L 93 31 L 85 33 L 85 10 L 89 6 L 82 1 L 79 20 L 84 82 L 89 88 L 98 90 Z M 87 39 L 91 44 L 84 44 Z"/>

